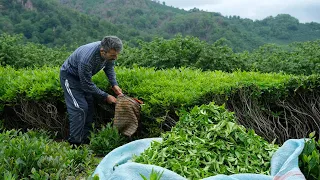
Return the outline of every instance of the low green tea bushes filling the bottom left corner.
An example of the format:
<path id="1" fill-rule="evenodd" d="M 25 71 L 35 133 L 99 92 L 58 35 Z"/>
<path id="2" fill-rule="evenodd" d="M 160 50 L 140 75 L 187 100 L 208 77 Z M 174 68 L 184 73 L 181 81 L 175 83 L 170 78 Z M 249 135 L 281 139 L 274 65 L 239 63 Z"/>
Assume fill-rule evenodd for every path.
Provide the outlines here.
<path id="1" fill-rule="evenodd" d="M 71 149 L 44 131 L 4 131 L 0 134 L 0 179 L 66 179 L 88 177 L 96 166 L 87 147 Z"/>

